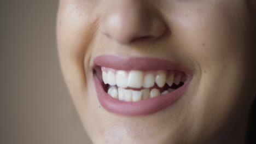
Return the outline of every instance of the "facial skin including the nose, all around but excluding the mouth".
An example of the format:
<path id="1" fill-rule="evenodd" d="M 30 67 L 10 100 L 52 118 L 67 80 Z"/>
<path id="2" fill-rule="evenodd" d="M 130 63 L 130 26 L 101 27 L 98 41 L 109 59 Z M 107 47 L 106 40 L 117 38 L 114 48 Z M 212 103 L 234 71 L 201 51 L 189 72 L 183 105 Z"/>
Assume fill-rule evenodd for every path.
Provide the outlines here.
<path id="1" fill-rule="evenodd" d="M 245 143 L 256 91 L 255 2 L 61 0 L 57 41 L 69 92 L 93 143 Z M 116 115 L 98 101 L 96 56 L 157 57 L 193 71 L 176 104 Z"/>

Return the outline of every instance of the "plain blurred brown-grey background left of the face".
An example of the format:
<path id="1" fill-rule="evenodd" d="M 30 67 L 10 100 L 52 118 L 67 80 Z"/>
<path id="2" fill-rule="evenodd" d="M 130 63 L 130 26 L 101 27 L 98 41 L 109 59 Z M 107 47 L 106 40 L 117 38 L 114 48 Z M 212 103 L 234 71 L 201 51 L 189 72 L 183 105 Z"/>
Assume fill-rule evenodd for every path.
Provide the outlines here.
<path id="1" fill-rule="evenodd" d="M 91 143 L 62 79 L 57 0 L 0 1 L 0 143 Z"/>

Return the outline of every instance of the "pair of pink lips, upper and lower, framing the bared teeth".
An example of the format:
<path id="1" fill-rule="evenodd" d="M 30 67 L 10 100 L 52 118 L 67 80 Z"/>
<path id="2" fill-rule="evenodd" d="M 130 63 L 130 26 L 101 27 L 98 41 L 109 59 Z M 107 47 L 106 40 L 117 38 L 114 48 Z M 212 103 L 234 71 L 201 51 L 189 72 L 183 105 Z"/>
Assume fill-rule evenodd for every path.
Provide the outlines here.
<path id="1" fill-rule="evenodd" d="M 164 110 L 166 107 L 174 104 L 187 91 L 190 83 L 190 70 L 182 68 L 178 64 L 159 58 L 121 58 L 117 56 L 98 56 L 94 59 L 94 65 L 100 67 L 113 68 L 118 70 L 179 70 L 188 75 L 188 80 L 185 81 L 182 87 L 175 91 L 159 97 L 146 100 L 127 102 L 112 98 L 103 88 L 101 77 L 94 74 L 94 81 L 98 100 L 101 105 L 109 112 L 117 113 L 126 116 L 150 115 L 152 113 Z"/>

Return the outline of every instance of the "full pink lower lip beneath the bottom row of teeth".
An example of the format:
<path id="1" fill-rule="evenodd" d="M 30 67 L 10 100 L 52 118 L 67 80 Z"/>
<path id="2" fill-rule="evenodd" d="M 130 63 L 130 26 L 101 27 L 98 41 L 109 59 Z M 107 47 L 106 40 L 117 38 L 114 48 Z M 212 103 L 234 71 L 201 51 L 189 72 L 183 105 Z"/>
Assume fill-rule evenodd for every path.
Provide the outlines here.
<path id="1" fill-rule="evenodd" d="M 191 79 L 189 78 L 185 81 L 182 87 L 179 87 L 175 91 L 166 95 L 160 95 L 159 97 L 136 102 L 128 102 L 112 98 L 104 91 L 100 80 L 98 80 L 97 76 L 94 75 L 96 92 L 100 104 L 109 112 L 125 116 L 150 115 L 172 106 L 187 91 L 190 80 Z"/>

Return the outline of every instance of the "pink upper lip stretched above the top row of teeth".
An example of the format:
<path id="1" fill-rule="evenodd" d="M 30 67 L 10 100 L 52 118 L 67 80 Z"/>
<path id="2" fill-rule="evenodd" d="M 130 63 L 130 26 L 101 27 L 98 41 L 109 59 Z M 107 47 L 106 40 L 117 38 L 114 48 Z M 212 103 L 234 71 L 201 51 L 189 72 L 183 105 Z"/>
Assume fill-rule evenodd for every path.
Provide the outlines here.
<path id="1" fill-rule="evenodd" d="M 119 57 L 102 55 L 94 59 L 94 67 L 107 67 L 117 70 L 178 70 L 187 75 L 192 71 L 182 65 L 156 57 Z"/>

